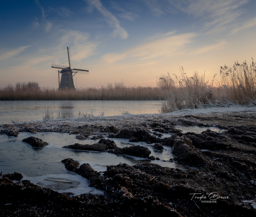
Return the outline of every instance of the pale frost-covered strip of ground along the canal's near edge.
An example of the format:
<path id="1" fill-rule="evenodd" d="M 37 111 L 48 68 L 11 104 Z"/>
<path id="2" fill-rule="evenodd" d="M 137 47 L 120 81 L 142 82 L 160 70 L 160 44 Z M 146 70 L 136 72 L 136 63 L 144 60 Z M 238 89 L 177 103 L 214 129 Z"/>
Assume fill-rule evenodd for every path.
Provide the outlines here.
<path id="1" fill-rule="evenodd" d="M 250 106 L 229 106 L 229 107 L 212 107 L 212 108 L 199 108 L 199 109 L 184 109 L 179 111 L 174 111 L 166 114 L 143 114 L 143 115 L 118 115 L 118 116 L 92 116 L 92 117 L 83 117 L 76 119 L 49 119 L 41 121 L 31 121 L 30 123 L 37 127 L 38 131 L 56 131 L 56 127 L 64 127 L 66 129 L 72 126 L 82 126 L 82 125 L 100 125 L 100 126 L 136 126 L 143 122 L 149 120 L 161 120 L 168 118 L 183 117 L 186 115 L 225 115 L 233 112 L 246 113 L 254 116 L 256 114 L 256 107 Z M 28 122 L 21 122 L 19 124 L 28 124 Z M 18 123 L 17 123 L 18 125 Z M 1 126 L 1 125 L 0 125 Z"/>

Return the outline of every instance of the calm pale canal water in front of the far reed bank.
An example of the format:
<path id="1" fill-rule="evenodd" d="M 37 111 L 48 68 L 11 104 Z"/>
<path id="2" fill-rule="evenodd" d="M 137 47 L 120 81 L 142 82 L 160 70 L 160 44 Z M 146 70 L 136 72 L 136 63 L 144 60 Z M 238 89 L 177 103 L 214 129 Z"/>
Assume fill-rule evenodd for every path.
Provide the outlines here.
<path id="1" fill-rule="evenodd" d="M 159 113 L 161 101 L 157 100 L 53 100 L 53 101 L 0 101 L 0 124 L 11 121 L 42 120 L 49 111 L 53 117 L 77 117 L 79 114 L 114 116 L 128 111 L 130 114 Z"/>

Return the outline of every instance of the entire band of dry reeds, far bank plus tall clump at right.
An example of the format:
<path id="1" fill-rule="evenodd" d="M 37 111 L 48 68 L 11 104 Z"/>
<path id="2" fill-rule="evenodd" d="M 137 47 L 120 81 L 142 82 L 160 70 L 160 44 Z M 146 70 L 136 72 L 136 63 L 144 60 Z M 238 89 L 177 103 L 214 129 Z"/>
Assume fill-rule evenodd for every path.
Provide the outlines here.
<path id="1" fill-rule="evenodd" d="M 171 77 L 173 76 L 173 77 Z M 39 87 L 37 82 L 17 83 L 0 88 L 0 100 L 164 100 L 161 113 L 184 108 L 227 105 L 256 105 L 256 67 L 252 60 L 232 67 L 220 67 L 220 81 L 205 81 L 205 74 L 189 77 L 180 68 L 180 75 L 161 76 L 157 87 L 126 87 L 111 83 L 98 88 L 57 90 Z M 86 114 L 88 115 L 88 114 Z M 52 117 L 52 114 L 46 114 Z"/>

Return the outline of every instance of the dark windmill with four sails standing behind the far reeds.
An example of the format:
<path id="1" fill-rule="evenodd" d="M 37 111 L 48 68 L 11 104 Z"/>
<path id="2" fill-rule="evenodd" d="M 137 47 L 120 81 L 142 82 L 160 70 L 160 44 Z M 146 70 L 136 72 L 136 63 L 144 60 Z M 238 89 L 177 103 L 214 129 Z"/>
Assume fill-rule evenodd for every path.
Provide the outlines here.
<path id="1" fill-rule="evenodd" d="M 58 70 L 58 90 L 60 89 L 75 89 L 73 76 L 76 75 L 78 71 L 85 72 L 88 74 L 88 70 L 80 70 L 79 68 L 71 68 L 71 61 L 70 61 L 70 48 L 67 47 L 67 57 L 68 57 L 68 65 L 69 67 L 62 67 L 60 65 L 52 64 L 52 68 L 60 68 Z M 73 72 L 75 70 L 76 72 Z M 61 74 L 61 81 L 60 81 L 60 74 Z"/>

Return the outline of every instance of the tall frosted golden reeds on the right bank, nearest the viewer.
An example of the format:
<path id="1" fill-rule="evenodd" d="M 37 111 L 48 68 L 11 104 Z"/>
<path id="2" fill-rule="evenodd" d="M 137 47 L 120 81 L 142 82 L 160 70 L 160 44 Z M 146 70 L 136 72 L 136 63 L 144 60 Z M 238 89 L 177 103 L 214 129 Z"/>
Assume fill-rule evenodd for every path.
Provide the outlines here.
<path id="1" fill-rule="evenodd" d="M 183 68 L 180 76 L 173 74 L 160 78 L 162 86 L 170 90 L 168 100 L 162 103 L 161 113 L 172 112 L 184 108 L 199 108 L 228 105 L 256 105 L 256 67 L 252 61 L 233 67 L 220 67 L 220 82 L 205 81 L 205 75 L 188 77 Z"/>

